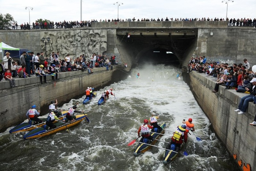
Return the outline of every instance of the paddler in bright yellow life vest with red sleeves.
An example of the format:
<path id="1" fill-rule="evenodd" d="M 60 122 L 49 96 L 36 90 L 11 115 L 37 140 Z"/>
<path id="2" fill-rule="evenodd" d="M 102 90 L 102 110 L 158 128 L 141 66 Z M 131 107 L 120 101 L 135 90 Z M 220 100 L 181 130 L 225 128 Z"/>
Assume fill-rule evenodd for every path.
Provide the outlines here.
<path id="1" fill-rule="evenodd" d="M 167 149 L 169 149 L 170 145 L 176 144 L 178 148 L 176 148 L 176 151 L 180 148 L 183 141 L 186 143 L 188 140 L 188 133 L 186 132 L 186 125 L 178 126 L 175 132 L 172 136 L 172 141 L 167 145 Z"/>

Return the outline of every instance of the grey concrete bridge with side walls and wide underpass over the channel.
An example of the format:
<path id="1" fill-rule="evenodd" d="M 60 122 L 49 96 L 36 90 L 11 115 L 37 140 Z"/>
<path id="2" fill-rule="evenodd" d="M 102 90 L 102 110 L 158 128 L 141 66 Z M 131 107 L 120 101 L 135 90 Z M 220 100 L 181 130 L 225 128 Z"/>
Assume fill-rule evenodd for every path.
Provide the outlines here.
<path id="1" fill-rule="evenodd" d="M 42 37 L 50 37 L 48 54 L 60 50 L 62 57 L 67 53 L 72 57 L 82 53 L 89 57 L 92 52 L 114 54 L 120 64 L 128 66 L 145 62 L 185 66 L 192 56 L 230 64 L 247 58 L 254 65 L 255 32 L 254 28 L 227 27 L 226 21 L 96 22 L 74 29 L 1 31 L 0 41 L 37 53 L 45 51 Z"/>

